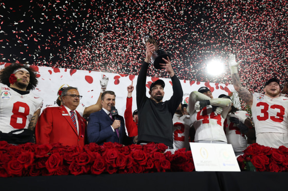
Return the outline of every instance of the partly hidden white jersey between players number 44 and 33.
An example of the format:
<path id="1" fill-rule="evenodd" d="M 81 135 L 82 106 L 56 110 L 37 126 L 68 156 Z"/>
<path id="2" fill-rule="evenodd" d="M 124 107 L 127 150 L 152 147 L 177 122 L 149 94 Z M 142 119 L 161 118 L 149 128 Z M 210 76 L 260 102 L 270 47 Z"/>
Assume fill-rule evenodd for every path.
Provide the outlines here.
<path id="1" fill-rule="evenodd" d="M 224 121 L 224 132 L 226 134 L 227 143 L 232 144 L 235 152 L 242 152 L 247 148 L 247 139 L 245 135 L 240 132 L 237 125 L 230 122 L 230 117 L 236 117 L 242 123 L 245 123 L 245 120 L 247 118 L 250 119 L 250 117 L 245 111 L 237 111 L 235 114 L 229 113 Z"/>

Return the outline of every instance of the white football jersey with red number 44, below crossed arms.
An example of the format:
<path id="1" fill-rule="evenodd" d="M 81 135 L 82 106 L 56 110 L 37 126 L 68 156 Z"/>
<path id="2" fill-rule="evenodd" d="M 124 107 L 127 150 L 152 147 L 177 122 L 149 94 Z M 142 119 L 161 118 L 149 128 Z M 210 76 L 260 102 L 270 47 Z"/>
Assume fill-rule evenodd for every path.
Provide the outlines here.
<path id="1" fill-rule="evenodd" d="M 227 142 L 223 129 L 224 120 L 220 114 L 214 114 L 212 105 L 207 105 L 200 112 L 195 112 L 191 116 L 195 128 L 194 140 Z"/>

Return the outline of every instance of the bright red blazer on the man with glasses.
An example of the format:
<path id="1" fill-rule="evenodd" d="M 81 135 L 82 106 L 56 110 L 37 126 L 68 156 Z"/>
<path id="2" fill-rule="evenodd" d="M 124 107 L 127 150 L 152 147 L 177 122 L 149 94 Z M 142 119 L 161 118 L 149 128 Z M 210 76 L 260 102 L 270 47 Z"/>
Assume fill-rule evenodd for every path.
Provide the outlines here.
<path id="1" fill-rule="evenodd" d="M 40 115 L 36 128 L 37 144 L 62 143 L 63 145 L 83 146 L 87 123 L 76 111 L 79 135 L 64 105 L 46 108 Z"/>

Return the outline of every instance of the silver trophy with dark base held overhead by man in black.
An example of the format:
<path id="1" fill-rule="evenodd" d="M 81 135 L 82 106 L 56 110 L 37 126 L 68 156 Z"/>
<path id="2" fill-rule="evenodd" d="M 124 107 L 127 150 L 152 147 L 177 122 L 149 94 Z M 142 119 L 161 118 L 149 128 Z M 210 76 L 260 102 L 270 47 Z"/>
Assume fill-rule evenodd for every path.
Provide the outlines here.
<path id="1" fill-rule="evenodd" d="M 142 37 L 142 41 L 145 44 L 145 47 L 148 43 L 153 44 L 155 46 L 155 51 L 153 52 L 151 56 L 151 63 L 154 65 L 155 69 L 161 70 L 161 65 L 159 63 L 165 63 L 165 61 L 162 58 L 167 59 L 167 56 L 169 57 L 169 60 L 171 61 L 171 57 L 165 52 L 164 50 L 160 50 L 156 44 L 156 40 L 149 34 L 145 34 Z"/>

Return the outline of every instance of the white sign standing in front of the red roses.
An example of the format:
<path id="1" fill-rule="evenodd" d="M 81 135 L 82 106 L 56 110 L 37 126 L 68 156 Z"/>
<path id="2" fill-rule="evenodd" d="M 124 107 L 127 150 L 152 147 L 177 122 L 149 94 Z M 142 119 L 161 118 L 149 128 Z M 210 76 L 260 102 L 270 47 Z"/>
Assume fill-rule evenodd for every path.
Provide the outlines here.
<path id="1" fill-rule="evenodd" d="M 231 144 L 190 143 L 195 171 L 233 171 L 240 168 Z"/>

